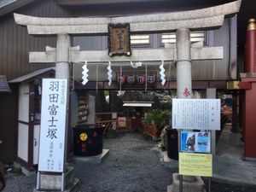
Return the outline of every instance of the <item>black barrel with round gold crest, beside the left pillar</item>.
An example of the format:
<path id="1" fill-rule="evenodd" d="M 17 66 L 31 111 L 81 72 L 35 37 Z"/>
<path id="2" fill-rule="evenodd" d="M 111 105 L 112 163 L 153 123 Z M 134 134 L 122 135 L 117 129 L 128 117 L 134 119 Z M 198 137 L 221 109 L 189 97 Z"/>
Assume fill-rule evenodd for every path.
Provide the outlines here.
<path id="1" fill-rule="evenodd" d="M 79 156 L 102 154 L 102 125 L 76 125 L 73 127 L 73 152 Z"/>

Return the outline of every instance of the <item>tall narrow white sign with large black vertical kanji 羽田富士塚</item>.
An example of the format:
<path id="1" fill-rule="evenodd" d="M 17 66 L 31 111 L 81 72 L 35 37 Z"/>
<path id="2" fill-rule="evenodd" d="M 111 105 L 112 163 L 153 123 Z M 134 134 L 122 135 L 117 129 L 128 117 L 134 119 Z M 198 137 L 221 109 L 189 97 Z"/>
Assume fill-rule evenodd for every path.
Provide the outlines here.
<path id="1" fill-rule="evenodd" d="M 39 172 L 63 172 L 67 79 L 43 79 Z"/>

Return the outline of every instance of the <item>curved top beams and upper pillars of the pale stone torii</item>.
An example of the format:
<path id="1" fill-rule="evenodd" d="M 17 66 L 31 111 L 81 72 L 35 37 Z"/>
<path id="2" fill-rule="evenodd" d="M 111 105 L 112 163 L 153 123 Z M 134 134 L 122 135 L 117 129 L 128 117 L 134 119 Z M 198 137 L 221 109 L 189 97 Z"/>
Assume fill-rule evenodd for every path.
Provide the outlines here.
<path id="1" fill-rule="evenodd" d="M 224 17 L 235 15 L 240 6 L 241 0 L 236 0 L 207 9 L 112 18 L 40 18 L 15 14 L 15 22 L 26 26 L 31 35 L 56 35 L 56 48 L 46 47 L 45 52 L 29 53 L 30 62 L 55 62 L 55 78 L 68 79 L 68 64 L 71 62 L 177 61 L 177 97 L 189 98 L 192 93 L 191 61 L 223 58 L 222 47 L 191 46 L 190 31 L 222 26 Z M 131 56 L 110 57 L 108 50 L 82 51 L 79 47 L 70 46 L 70 35 L 106 35 L 108 24 L 118 23 L 130 23 L 132 34 L 176 32 L 176 47 L 134 49 Z"/>

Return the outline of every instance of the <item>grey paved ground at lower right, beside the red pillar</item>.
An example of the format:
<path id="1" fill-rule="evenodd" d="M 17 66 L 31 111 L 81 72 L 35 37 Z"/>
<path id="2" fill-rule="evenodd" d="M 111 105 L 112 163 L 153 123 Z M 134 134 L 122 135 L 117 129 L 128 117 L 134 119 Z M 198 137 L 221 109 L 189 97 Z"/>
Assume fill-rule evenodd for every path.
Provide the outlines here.
<path id="1" fill-rule="evenodd" d="M 241 134 L 230 131 L 230 125 L 225 126 L 213 159 L 213 177 L 228 183 L 256 185 L 256 162 L 242 160 L 240 138 Z"/>

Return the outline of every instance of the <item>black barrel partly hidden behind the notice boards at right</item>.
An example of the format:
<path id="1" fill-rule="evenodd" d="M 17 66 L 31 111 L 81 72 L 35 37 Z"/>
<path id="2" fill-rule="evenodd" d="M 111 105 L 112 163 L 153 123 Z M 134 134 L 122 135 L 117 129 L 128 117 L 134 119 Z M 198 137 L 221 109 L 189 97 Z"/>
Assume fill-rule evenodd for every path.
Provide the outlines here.
<path id="1" fill-rule="evenodd" d="M 177 130 L 166 129 L 167 136 L 167 155 L 172 160 L 178 160 L 178 136 Z"/>

